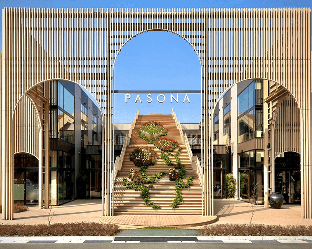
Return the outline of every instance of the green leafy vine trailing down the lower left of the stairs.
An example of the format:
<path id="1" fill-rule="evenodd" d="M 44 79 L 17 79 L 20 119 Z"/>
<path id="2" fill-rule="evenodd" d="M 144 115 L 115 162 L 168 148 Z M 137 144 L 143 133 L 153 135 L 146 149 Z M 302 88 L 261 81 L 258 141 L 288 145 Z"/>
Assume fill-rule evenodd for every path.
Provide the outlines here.
<path id="1" fill-rule="evenodd" d="M 166 174 L 166 172 L 155 173 L 149 178 L 147 178 L 145 173 L 146 169 L 147 169 L 146 166 L 142 166 L 140 168 L 139 170 L 140 181 L 129 182 L 127 178 L 123 178 L 123 185 L 126 188 L 131 188 L 134 189 L 135 191 L 141 191 L 140 196 L 144 200 L 145 206 L 151 206 L 153 209 L 160 209 L 161 207 L 159 205 L 156 205 L 154 202 L 150 201 L 148 189 L 152 188 L 153 185 L 152 184 L 144 185 L 144 184 L 158 182 Z M 136 171 L 130 170 L 129 178 L 131 178 L 132 173 L 136 173 Z"/>

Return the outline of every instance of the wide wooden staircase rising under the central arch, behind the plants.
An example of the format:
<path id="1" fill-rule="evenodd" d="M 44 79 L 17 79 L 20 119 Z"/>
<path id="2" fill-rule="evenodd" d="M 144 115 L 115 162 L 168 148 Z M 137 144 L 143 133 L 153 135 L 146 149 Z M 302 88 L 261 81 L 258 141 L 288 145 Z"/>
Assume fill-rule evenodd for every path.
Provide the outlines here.
<path id="1" fill-rule="evenodd" d="M 175 197 L 175 188 L 174 182 L 169 180 L 168 174 L 163 176 L 158 183 L 154 183 L 154 187 L 149 189 L 150 200 L 155 204 L 160 205 L 161 209 L 152 209 L 151 206 L 144 206 L 144 200 L 140 197 L 140 191 L 135 191 L 134 189 L 127 189 L 124 187 L 123 178 L 128 179 L 129 170 L 131 168 L 139 170 L 139 167 L 135 166 L 132 161 L 129 159 L 129 153 L 133 151 L 136 147 L 141 146 L 150 146 L 158 154 L 159 158 L 156 163 L 152 166 L 148 166 L 146 170 L 147 177 L 150 177 L 154 173 L 160 173 L 162 171 L 169 172 L 169 167 L 164 163 L 161 156 L 161 150 L 156 148 L 153 144 L 148 144 L 146 141 L 140 139 L 138 135 L 138 130 L 142 124 L 148 121 L 158 121 L 163 125 L 164 129 L 161 132 L 164 132 L 166 129 L 169 129 L 166 137 L 169 137 L 173 140 L 176 140 L 179 143 L 179 146 L 182 147 L 180 154 L 181 163 L 185 165 L 188 176 L 193 175 L 193 184 L 190 189 L 182 190 L 182 197 L 184 203 L 179 205 L 178 208 L 173 209 L 170 204 Z M 149 134 L 144 133 L 149 138 Z M 172 153 L 175 153 L 178 148 L 176 148 Z M 173 163 L 175 159 L 171 157 Z M 128 179 L 130 181 L 130 179 Z M 185 183 L 185 181 L 184 181 Z M 136 121 L 134 130 L 131 135 L 130 143 L 127 145 L 123 164 L 121 170 L 118 171 L 115 185 L 114 185 L 114 215 L 147 215 L 147 214 L 202 214 L 202 194 L 201 186 L 196 174 L 196 171 L 192 169 L 190 164 L 190 159 L 186 150 L 185 145 L 183 144 L 179 129 L 176 126 L 175 120 L 172 115 L 139 115 Z"/>

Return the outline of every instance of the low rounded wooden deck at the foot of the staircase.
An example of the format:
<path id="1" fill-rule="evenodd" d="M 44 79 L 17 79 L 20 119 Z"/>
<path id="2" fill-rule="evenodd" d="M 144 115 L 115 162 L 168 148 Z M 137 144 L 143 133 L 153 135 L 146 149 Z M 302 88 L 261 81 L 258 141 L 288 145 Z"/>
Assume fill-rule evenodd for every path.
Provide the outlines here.
<path id="1" fill-rule="evenodd" d="M 217 216 L 202 215 L 116 215 L 102 216 L 103 223 L 116 224 L 121 227 L 178 227 L 188 228 L 207 225 L 217 220 Z"/>

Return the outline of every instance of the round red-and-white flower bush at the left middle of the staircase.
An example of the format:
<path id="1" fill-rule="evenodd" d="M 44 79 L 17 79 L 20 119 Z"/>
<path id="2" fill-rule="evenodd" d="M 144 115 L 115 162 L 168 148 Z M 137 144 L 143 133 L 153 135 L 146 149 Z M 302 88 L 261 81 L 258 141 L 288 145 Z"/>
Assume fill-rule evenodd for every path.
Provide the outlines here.
<path id="1" fill-rule="evenodd" d="M 130 153 L 130 161 L 138 167 L 154 165 L 157 153 L 150 147 L 137 147 Z"/>

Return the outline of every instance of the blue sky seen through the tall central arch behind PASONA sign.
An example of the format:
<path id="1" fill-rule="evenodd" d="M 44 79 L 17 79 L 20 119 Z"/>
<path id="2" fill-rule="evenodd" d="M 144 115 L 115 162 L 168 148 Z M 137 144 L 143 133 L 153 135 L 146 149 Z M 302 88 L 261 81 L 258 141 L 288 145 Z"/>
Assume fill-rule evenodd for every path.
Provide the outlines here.
<path id="1" fill-rule="evenodd" d="M 113 89 L 129 92 L 145 90 L 146 93 L 139 94 L 138 101 L 136 101 L 137 93 L 133 93 L 126 102 L 125 94 L 115 94 L 115 123 L 120 122 L 121 116 L 127 118 L 127 122 L 130 123 L 137 109 L 140 109 L 142 114 L 155 112 L 169 114 L 171 109 L 174 109 L 177 116 L 181 117 L 181 122 L 183 119 L 185 122 L 189 120 L 200 122 L 200 95 L 187 93 L 190 100 L 188 102 L 184 101 L 185 93 L 178 95 L 175 93 L 175 90 L 200 91 L 202 88 L 202 65 L 199 56 L 194 53 L 196 50 L 191 43 L 179 37 L 183 38 L 168 30 L 148 30 L 131 37 L 125 43 L 127 45 L 124 44 L 120 48 L 113 63 Z M 149 91 L 150 97 L 147 96 Z M 157 101 L 159 93 L 152 91 L 159 93 L 163 91 L 166 100 L 162 102 L 161 96 L 160 103 Z M 168 91 L 172 91 L 174 99 Z"/>

